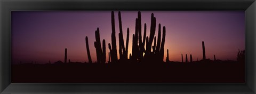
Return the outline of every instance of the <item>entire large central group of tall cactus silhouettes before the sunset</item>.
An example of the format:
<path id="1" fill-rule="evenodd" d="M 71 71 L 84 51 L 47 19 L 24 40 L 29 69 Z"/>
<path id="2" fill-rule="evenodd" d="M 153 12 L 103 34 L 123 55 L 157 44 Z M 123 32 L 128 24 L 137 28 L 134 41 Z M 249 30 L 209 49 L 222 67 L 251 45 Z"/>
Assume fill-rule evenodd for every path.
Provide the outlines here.
<path id="1" fill-rule="evenodd" d="M 122 20 L 121 20 L 121 12 L 118 12 L 118 20 L 119 20 L 119 58 L 120 60 L 127 60 L 128 59 L 128 45 L 129 45 L 129 28 L 127 28 L 127 36 L 126 36 L 126 45 L 124 45 L 124 38 L 123 38 L 123 30 L 122 30 Z M 138 12 L 138 18 L 135 20 L 135 34 L 133 34 L 132 38 L 132 54 L 130 54 L 130 60 L 132 61 L 156 61 L 156 62 L 163 62 L 164 59 L 164 42 L 165 42 L 165 26 L 163 27 L 163 36 L 161 41 L 161 24 L 159 24 L 158 29 L 158 37 L 156 40 L 155 31 L 156 31 L 156 17 L 154 14 L 151 14 L 151 26 L 150 26 L 150 35 L 149 37 L 146 36 L 146 23 L 144 24 L 144 34 L 142 39 L 141 34 L 141 13 Z M 111 12 L 111 44 L 108 43 L 109 48 L 109 60 L 108 62 L 117 62 L 117 48 L 116 48 L 116 36 L 115 36 L 115 16 L 114 12 Z M 100 43 L 100 35 L 99 35 L 99 28 L 95 31 L 95 38 L 96 41 L 94 42 L 94 46 L 97 52 L 97 62 L 105 63 L 106 61 L 106 46 L 105 40 Z M 92 62 L 88 39 L 86 36 L 86 49 L 89 58 L 89 62 Z M 152 46 L 154 40 L 154 45 Z M 146 45 L 146 50 L 145 50 Z M 103 51 L 102 51 L 103 50 Z M 152 50 L 152 51 L 151 51 Z M 145 55 L 144 55 L 145 53 Z M 169 59 L 168 59 L 169 60 Z"/>

